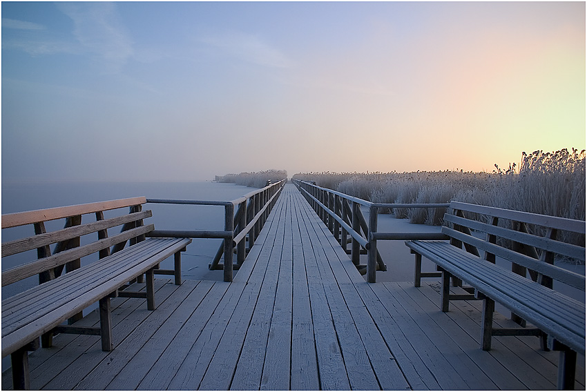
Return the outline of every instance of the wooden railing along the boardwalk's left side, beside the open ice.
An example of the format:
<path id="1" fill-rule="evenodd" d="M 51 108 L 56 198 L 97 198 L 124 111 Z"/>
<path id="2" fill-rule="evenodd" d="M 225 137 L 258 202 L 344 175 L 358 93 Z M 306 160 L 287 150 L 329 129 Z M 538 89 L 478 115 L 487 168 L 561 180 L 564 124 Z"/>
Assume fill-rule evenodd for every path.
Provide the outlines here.
<path id="1" fill-rule="evenodd" d="M 282 179 L 280 182 L 267 184 L 264 188 L 253 190 L 253 192 L 247 193 L 247 195 L 230 202 L 147 198 L 147 203 L 224 206 L 224 231 L 155 230 L 150 233 L 150 236 L 223 239 L 222 245 L 218 249 L 209 268 L 211 270 L 222 269 L 224 271 L 224 282 L 232 282 L 233 270 L 240 268 L 245 257 L 247 257 L 249 249 L 255 244 L 255 240 L 259 236 L 259 232 L 265 221 L 267 221 L 271 208 L 276 204 L 277 198 L 286 182 L 287 179 Z M 233 253 L 235 249 L 237 263 L 233 265 Z M 224 264 L 220 264 L 222 255 L 224 255 Z"/>

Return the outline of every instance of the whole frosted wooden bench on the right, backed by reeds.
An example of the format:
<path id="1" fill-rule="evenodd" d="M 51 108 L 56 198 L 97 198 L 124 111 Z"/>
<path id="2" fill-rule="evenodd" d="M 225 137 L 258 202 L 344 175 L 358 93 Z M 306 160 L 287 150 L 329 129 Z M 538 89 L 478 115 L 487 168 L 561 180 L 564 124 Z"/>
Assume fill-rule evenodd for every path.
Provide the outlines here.
<path id="1" fill-rule="evenodd" d="M 416 286 L 421 277 L 441 276 L 441 309 L 450 300 L 483 300 L 481 349 L 495 335 L 537 335 L 543 349 L 560 350 L 559 389 L 575 386 L 577 353 L 585 353 L 585 304 L 553 290 L 557 280 L 585 291 L 585 277 L 554 265 L 555 257 L 585 262 L 585 222 L 502 208 L 451 202 L 442 233 L 449 241 L 406 241 L 416 254 Z M 575 236 L 582 246 L 568 243 Z M 421 257 L 441 273 L 421 273 Z M 511 263 L 509 268 L 496 264 Z M 438 276 L 436 275 L 436 276 Z M 464 286 L 470 295 L 450 294 Z M 494 303 L 512 311 L 512 320 L 535 328 L 496 329 Z"/>

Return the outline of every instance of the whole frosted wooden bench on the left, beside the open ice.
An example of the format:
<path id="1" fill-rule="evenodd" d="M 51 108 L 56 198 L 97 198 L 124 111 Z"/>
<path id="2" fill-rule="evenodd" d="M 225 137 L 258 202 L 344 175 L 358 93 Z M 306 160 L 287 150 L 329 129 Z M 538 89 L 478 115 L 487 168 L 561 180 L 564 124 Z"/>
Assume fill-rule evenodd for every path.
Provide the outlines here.
<path id="1" fill-rule="evenodd" d="M 15 257 L 18 264 L 2 272 L 2 286 L 39 275 L 38 286 L 29 282 L 34 287 L 2 300 L 2 357 L 11 355 L 15 389 L 29 387 L 28 351 L 39 347 L 39 337 L 42 346 L 50 347 L 54 333 L 100 335 L 102 350 L 111 351 L 110 297 L 146 298 L 148 309 L 155 310 L 153 274 L 173 274 L 175 284 L 181 284 L 180 251 L 191 239 L 146 238 L 155 227 L 144 224 L 152 215 L 151 210 L 142 210 L 144 203 L 144 197 L 135 197 L 2 215 L 3 235 L 17 226 L 32 224 L 35 229 L 35 235 L 2 244 L 3 265 L 14 264 Z M 105 218 L 104 212 L 115 216 Z M 82 216 L 90 222 L 82 224 Z M 64 228 L 48 232 L 46 222 L 55 219 L 65 219 Z M 117 226 L 120 232 L 108 235 L 108 229 L 118 231 L 113 229 Z M 52 251 L 51 244 L 55 244 Z M 160 270 L 160 262 L 171 255 L 175 270 Z M 146 291 L 124 290 L 129 282 L 142 282 L 143 275 Z M 83 309 L 95 302 L 99 302 L 100 326 L 75 326 Z"/>

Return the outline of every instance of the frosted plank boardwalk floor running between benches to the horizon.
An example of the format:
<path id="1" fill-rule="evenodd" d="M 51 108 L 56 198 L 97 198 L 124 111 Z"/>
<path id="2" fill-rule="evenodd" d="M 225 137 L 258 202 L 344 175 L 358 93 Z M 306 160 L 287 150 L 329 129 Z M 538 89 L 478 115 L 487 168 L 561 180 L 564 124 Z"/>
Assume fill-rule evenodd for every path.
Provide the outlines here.
<path id="1" fill-rule="evenodd" d="M 156 280 L 157 310 L 113 300 L 115 350 L 57 335 L 33 389 L 555 389 L 536 337 L 479 349 L 479 302 L 439 311 L 437 284 L 367 284 L 287 184 L 234 282 Z M 79 323 L 98 323 L 94 311 Z M 510 325 L 497 315 L 497 323 Z M 579 356 L 577 389 L 585 388 Z M 10 389 L 10 373 L 2 377 Z"/>

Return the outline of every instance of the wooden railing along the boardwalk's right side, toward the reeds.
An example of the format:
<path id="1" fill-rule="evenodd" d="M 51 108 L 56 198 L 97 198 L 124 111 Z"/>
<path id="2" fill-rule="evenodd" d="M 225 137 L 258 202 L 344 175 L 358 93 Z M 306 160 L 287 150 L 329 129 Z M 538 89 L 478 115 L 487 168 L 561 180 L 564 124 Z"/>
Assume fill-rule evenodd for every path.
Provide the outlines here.
<path id="1" fill-rule="evenodd" d="M 377 216 L 380 208 L 448 208 L 448 203 L 440 204 L 382 204 L 367 202 L 344 193 L 317 186 L 313 182 L 292 179 L 302 195 L 314 208 L 318 217 L 327 225 L 329 231 L 350 254 L 353 264 L 363 275 L 367 274 L 367 282 L 375 283 L 376 271 L 387 271 L 379 251 L 378 240 L 407 239 L 448 239 L 442 233 L 392 233 L 377 231 Z M 369 222 L 365 220 L 360 206 L 369 208 Z M 350 239 L 348 237 L 351 237 Z M 351 249 L 347 249 L 347 244 Z M 360 264 L 360 255 L 367 254 L 367 264 Z"/>

